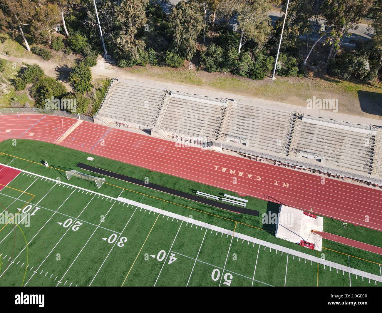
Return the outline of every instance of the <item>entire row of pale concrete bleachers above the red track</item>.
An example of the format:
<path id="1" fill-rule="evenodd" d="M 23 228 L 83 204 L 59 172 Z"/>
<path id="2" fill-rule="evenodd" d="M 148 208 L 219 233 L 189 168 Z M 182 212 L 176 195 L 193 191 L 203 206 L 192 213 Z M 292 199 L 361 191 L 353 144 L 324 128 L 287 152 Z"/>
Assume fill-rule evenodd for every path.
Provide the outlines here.
<path id="1" fill-rule="evenodd" d="M 382 128 L 372 125 L 127 79 L 112 81 L 95 120 L 359 180 L 382 178 Z"/>

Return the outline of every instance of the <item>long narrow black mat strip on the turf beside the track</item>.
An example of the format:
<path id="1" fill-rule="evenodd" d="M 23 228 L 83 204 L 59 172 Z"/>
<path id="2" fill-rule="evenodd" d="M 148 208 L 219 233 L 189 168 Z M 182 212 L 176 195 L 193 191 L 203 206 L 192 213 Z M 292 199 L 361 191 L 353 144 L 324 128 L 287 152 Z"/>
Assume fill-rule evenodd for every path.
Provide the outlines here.
<path id="1" fill-rule="evenodd" d="M 154 190 L 162 191 L 162 192 L 165 192 L 165 193 L 169 193 L 170 195 L 174 195 L 174 196 L 178 196 L 178 197 L 181 197 L 181 198 L 189 199 L 191 201 L 196 201 L 196 202 L 199 202 L 199 203 L 204 203 L 204 204 L 207 204 L 207 205 L 210 205 L 210 206 L 214 206 L 215 208 L 220 208 L 220 209 L 224 209 L 224 210 L 228 210 L 228 211 L 233 211 L 233 212 L 236 212 L 236 213 L 239 213 L 239 214 L 243 213 L 243 214 L 248 214 L 248 215 L 253 215 L 253 216 L 259 216 L 259 211 L 256 211 L 256 210 L 250 210 L 250 209 L 246 209 L 246 208 L 239 208 L 237 206 L 232 206 L 230 204 L 225 204 L 225 203 L 222 203 L 222 202 L 217 202 L 217 201 L 213 201 L 213 200 L 206 199 L 206 198 L 201 198 L 201 197 L 199 197 L 197 195 L 193 195 L 191 193 L 186 193 L 184 191 L 179 191 L 179 190 L 175 190 L 175 189 L 172 189 L 172 188 L 163 187 L 161 185 L 157 185 L 157 184 L 153 184 L 153 183 L 145 184 L 143 180 L 140 180 L 140 179 L 137 179 L 137 178 L 133 178 L 133 177 L 129 177 L 129 176 L 122 175 L 122 174 L 118 174 L 118 173 L 114 173 L 114 172 L 110 172 L 108 170 L 100 169 L 99 167 L 94 167 L 94 166 L 83 164 L 83 163 L 78 163 L 77 167 L 80 167 L 81 169 L 88 170 L 88 171 L 91 171 L 91 172 L 94 172 L 94 173 L 97 173 L 97 174 L 100 174 L 100 175 L 117 178 L 119 180 L 124 180 L 125 182 L 133 183 L 135 185 L 140 185 L 140 186 L 147 187 L 147 188 L 150 188 L 150 189 L 154 189 Z"/>

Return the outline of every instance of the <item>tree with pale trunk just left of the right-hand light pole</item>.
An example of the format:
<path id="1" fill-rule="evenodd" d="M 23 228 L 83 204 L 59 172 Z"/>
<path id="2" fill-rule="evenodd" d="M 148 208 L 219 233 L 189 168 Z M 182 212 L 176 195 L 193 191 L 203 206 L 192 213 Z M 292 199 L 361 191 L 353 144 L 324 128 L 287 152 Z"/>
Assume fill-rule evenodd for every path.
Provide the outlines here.
<path id="1" fill-rule="evenodd" d="M 257 42 L 258 49 L 267 42 L 272 29 L 268 16 L 270 9 L 269 0 L 238 0 L 236 11 L 240 29 L 239 54 L 247 41 Z"/>

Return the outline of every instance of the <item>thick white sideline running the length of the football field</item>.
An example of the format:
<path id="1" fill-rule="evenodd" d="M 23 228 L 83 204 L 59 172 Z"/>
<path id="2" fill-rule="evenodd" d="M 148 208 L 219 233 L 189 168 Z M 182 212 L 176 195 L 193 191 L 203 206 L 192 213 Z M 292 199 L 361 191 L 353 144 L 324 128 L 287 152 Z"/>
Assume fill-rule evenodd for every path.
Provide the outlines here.
<path id="1" fill-rule="evenodd" d="M 0 163 L 0 165 L 4 165 L 4 164 Z M 11 167 L 11 166 L 9 166 L 9 167 Z M 21 170 L 21 169 L 18 169 L 16 167 L 11 167 L 11 168 L 16 169 L 16 170 Z M 52 179 L 52 178 L 49 178 L 49 177 L 45 177 L 45 176 L 41 176 L 41 175 L 34 174 L 34 173 L 31 173 L 31 172 L 27 172 L 25 170 L 21 170 L 21 171 L 25 172 L 27 174 L 36 175 L 38 177 L 49 179 L 49 180 L 51 180 L 53 182 L 61 183 L 61 184 L 64 184 L 64 185 L 68 185 L 68 186 L 71 186 L 71 187 L 74 187 L 74 188 L 77 188 L 77 189 L 80 189 L 80 190 L 83 190 L 83 191 L 88 191 L 88 192 L 93 193 L 95 195 L 100 195 L 100 196 L 106 197 L 108 199 L 118 200 L 118 201 L 123 202 L 123 203 L 131 204 L 132 206 L 137 206 L 138 208 L 147 209 L 147 210 L 152 211 L 152 212 L 157 212 L 158 214 L 163 214 L 163 215 L 168 216 L 168 217 L 173 217 L 173 218 L 178 219 L 180 221 L 189 222 L 189 223 L 192 223 L 194 225 L 205 227 L 207 229 L 211 229 L 211 230 L 220 232 L 222 234 L 226 234 L 226 235 L 230 235 L 230 236 L 233 235 L 236 238 L 240 238 L 242 240 L 246 240 L 246 241 L 249 241 L 249 242 L 252 242 L 252 243 L 256 243 L 258 245 L 261 245 L 261 246 L 264 246 L 264 247 L 267 247 L 267 248 L 271 248 L 271 249 L 274 249 L 274 250 L 282 251 L 283 253 L 288 253 L 290 255 L 294 255 L 294 256 L 297 256 L 299 258 L 304 258 L 304 259 L 307 259 L 307 260 L 315 262 L 315 263 L 319 263 L 319 264 L 322 264 L 322 265 L 325 265 L 325 266 L 329 266 L 329 267 L 332 267 L 332 268 L 335 268 L 335 269 L 339 269 L 340 271 L 345 271 L 345 272 L 348 272 L 348 273 L 351 273 L 351 274 L 354 274 L 354 275 L 358 275 L 358 276 L 361 276 L 361 277 L 372 279 L 372 280 L 377 281 L 377 282 L 382 282 L 382 276 L 374 275 L 374 274 L 371 274 L 371 273 L 368 273 L 368 272 L 364 272 L 364 271 L 360 271 L 358 269 L 354 269 L 354 268 L 351 268 L 349 266 L 345 266 L 345 265 L 342 265 L 342 264 L 334 263 L 332 261 L 327 261 L 325 259 L 321 259 L 321 258 L 318 258 L 317 256 L 312 256 L 312 255 L 303 253 L 301 251 L 297 251 L 297 250 L 293 250 L 293 249 L 290 249 L 290 248 L 286 248 L 286 247 L 283 247 L 283 246 L 280 246 L 280 245 L 276 245 L 274 243 L 266 242 L 264 240 L 253 238 L 253 237 L 250 237 L 248 235 L 240 234 L 240 233 L 237 233 L 237 232 L 233 233 L 232 230 L 224 229 L 222 227 L 218 227 L 218 226 L 211 225 L 211 224 L 208 224 L 208 223 L 205 223 L 205 222 L 201 222 L 201 221 L 197 221 L 197 220 L 194 220 L 194 219 L 190 219 L 189 217 L 185 217 L 185 216 L 182 216 L 180 214 L 176 214 L 176 213 L 173 213 L 173 212 L 168 212 L 168 211 L 165 211 L 165 210 L 162 210 L 162 209 L 158 209 L 158 208 L 155 208 L 153 206 L 149 206 L 147 204 L 139 203 L 137 201 L 129 200 L 129 199 L 122 198 L 122 197 L 118 197 L 116 199 L 116 198 L 104 195 L 102 193 L 98 193 L 98 192 L 95 192 L 95 191 L 87 190 L 85 188 L 77 187 L 77 186 L 74 186 L 74 185 L 71 185 L 71 184 L 68 184 L 68 183 L 59 182 L 58 180 L 55 180 L 55 179 Z"/>

